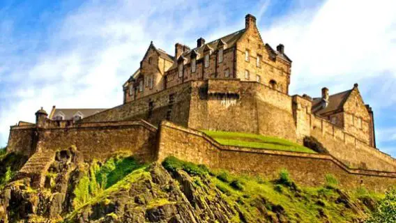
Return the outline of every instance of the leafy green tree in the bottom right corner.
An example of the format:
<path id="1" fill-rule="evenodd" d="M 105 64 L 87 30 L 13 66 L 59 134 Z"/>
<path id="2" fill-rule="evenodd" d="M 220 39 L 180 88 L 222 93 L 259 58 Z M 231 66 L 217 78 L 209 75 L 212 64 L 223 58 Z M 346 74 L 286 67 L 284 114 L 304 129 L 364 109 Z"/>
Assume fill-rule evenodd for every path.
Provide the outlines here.
<path id="1" fill-rule="evenodd" d="M 367 220 L 367 223 L 390 223 L 396 222 L 396 190 L 386 192 L 384 199 L 379 201 L 379 204 L 372 213 L 372 216 Z"/>

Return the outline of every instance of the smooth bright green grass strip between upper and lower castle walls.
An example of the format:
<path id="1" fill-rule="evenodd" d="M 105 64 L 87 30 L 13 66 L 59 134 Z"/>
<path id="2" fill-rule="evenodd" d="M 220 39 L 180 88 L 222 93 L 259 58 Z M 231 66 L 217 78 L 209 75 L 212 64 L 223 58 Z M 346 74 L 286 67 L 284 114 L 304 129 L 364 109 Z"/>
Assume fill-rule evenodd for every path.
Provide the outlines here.
<path id="1" fill-rule="evenodd" d="M 245 132 L 222 132 L 202 130 L 205 134 L 225 146 L 242 146 L 250 148 L 264 148 L 278 151 L 292 151 L 300 153 L 316 153 L 310 148 L 301 146 L 287 139 L 268 137 L 261 134 L 251 134 Z"/>

